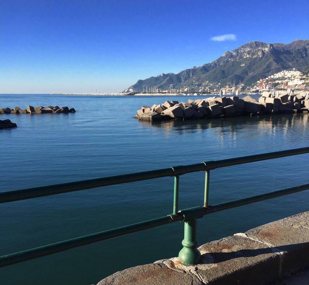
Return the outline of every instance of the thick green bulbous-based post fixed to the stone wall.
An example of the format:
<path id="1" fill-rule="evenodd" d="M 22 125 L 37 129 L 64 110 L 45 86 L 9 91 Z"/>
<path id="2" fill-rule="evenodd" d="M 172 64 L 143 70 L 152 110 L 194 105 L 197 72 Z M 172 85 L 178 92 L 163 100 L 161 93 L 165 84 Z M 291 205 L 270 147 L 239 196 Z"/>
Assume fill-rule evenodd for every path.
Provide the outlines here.
<path id="1" fill-rule="evenodd" d="M 199 250 L 196 248 L 196 218 L 184 222 L 183 248 L 178 254 L 178 260 L 185 266 L 198 264 L 201 258 Z"/>

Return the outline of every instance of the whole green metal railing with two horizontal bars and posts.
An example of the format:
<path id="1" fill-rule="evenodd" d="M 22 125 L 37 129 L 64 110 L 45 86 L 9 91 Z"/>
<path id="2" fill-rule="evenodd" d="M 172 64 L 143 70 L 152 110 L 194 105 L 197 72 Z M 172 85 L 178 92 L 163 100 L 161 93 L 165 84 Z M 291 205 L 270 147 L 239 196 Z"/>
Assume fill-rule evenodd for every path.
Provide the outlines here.
<path id="1" fill-rule="evenodd" d="M 210 170 L 238 165 L 249 162 L 262 161 L 273 158 L 281 158 L 291 155 L 309 153 L 309 147 L 300 149 L 290 149 L 272 153 L 263 153 L 239 158 L 230 158 L 217 161 L 201 162 L 197 164 L 174 166 L 164 169 L 131 173 L 125 175 L 109 176 L 97 179 L 89 179 L 70 183 L 62 183 L 48 185 L 42 187 L 13 190 L 0 192 L 0 203 L 19 201 L 35 197 L 49 196 L 66 192 L 79 191 L 84 189 L 154 179 L 166 176 L 174 176 L 174 206 L 173 214 L 164 217 L 155 218 L 152 220 L 139 222 L 124 227 L 118 227 L 107 231 L 97 232 L 91 235 L 77 237 L 75 239 L 65 240 L 54 244 L 24 250 L 17 253 L 12 253 L 0 257 L 0 267 L 19 263 L 26 260 L 31 260 L 37 257 L 46 256 L 49 254 L 61 252 L 70 248 L 92 244 L 101 240 L 108 240 L 114 237 L 127 235 L 137 231 L 143 231 L 149 228 L 169 224 L 172 222 L 184 222 L 184 239 L 182 240 L 183 248 L 179 252 L 178 259 L 184 265 L 194 265 L 200 261 L 200 252 L 197 249 L 196 241 L 196 220 L 204 215 L 214 212 L 230 209 L 242 205 L 251 204 L 258 201 L 263 201 L 278 196 L 283 196 L 295 192 L 300 192 L 309 189 L 309 184 L 304 184 L 296 187 L 286 188 L 278 191 L 268 192 L 260 195 L 255 195 L 247 198 L 242 198 L 234 201 L 229 201 L 216 205 L 208 205 L 209 195 L 209 175 Z M 178 211 L 178 191 L 179 191 L 179 176 L 186 173 L 205 171 L 205 189 L 204 189 L 204 205 L 184 209 Z"/>

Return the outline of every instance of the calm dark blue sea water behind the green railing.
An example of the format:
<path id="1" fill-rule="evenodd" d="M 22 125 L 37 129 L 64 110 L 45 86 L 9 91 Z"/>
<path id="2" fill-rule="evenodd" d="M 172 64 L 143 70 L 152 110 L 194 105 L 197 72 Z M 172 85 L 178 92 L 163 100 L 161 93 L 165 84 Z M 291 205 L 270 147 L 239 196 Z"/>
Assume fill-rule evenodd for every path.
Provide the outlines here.
<path id="1" fill-rule="evenodd" d="M 308 146 L 307 114 L 139 122 L 141 105 L 181 97 L 0 95 L 0 106 L 74 107 L 75 114 L 0 115 L 1 190 L 8 191 Z M 210 204 L 309 182 L 307 154 L 211 171 Z M 0 206 L 0 255 L 170 214 L 172 177 Z M 202 205 L 203 172 L 180 178 L 179 209 Z M 200 244 L 308 210 L 308 192 L 198 220 Z M 2 285 L 90 285 L 131 266 L 174 257 L 173 223 L 0 269 Z"/>

